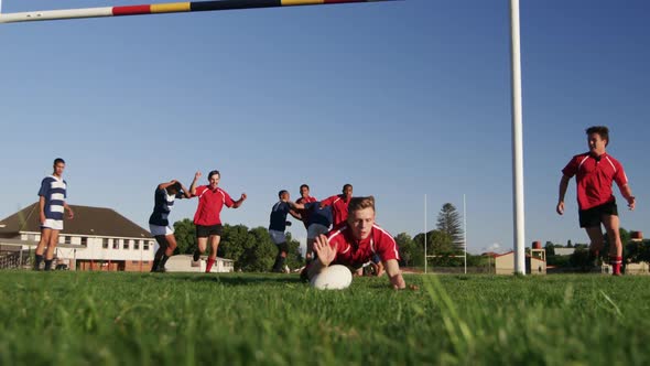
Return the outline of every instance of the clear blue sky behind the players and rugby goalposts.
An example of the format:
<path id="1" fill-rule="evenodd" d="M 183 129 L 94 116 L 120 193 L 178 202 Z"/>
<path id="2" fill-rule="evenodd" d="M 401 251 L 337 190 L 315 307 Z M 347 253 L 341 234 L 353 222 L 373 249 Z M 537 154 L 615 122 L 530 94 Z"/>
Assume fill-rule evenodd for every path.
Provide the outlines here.
<path id="1" fill-rule="evenodd" d="M 53 9 L 4 0 L 3 12 Z M 143 1 L 145 2 L 145 1 Z M 156 1 L 161 2 L 161 1 Z M 56 2 L 58 9 L 137 1 Z M 586 243 L 560 170 L 611 129 L 648 228 L 650 3 L 521 3 L 526 240 Z M 408 0 L 0 25 L 0 217 L 36 201 L 67 161 L 69 204 L 143 227 L 156 184 L 221 171 L 246 192 L 229 224 L 267 226 L 277 192 L 372 194 L 393 235 L 467 197 L 469 250 L 512 248 L 509 1 Z M 192 217 L 180 202 L 173 219 Z M 302 225 L 291 229 L 304 237 Z"/>

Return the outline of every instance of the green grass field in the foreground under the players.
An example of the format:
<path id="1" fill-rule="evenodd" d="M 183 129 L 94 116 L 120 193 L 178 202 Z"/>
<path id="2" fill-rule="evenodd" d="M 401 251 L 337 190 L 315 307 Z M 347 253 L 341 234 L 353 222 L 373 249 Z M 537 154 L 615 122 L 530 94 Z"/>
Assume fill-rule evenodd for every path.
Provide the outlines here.
<path id="1" fill-rule="evenodd" d="M 650 278 L 0 272 L 2 365 L 648 365 Z"/>

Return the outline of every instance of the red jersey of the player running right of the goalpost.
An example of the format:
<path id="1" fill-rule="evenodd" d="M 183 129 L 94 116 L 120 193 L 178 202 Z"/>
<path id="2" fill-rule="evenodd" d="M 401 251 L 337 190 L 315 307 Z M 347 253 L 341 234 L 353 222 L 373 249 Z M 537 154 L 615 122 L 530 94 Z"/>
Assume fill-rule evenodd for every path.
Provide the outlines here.
<path id="1" fill-rule="evenodd" d="M 588 152 L 575 155 L 562 173 L 568 177 L 575 175 L 579 209 L 589 209 L 615 201 L 611 183 L 616 182 L 619 187 L 628 183 L 622 165 L 607 153 L 598 158 Z"/>

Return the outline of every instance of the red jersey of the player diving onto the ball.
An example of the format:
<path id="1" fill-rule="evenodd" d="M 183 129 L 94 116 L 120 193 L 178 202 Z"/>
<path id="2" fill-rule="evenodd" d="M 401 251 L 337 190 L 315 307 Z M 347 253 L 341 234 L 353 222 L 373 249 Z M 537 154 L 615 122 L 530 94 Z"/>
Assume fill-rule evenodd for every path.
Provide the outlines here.
<path id="1" fill-rule="evenodd" d="M 347 225 L 329 232 L 327 238 L 331 247 L 337 246 L 333 261 L 335 265 L 359 267 L 371 260 L 373 255 L 378 255 L 382 261 L 400 260 L 398 245 L 392 235 L 377 224 L 372 225 L 370 235 L 364 240 L 355 239 Z"/>

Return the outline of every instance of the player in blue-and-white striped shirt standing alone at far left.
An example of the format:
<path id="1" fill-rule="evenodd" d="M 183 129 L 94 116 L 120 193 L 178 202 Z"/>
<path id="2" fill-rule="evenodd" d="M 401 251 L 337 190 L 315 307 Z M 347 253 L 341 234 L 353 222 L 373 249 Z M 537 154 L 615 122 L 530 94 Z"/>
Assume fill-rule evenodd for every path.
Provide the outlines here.
<path id="1" fill-rule="evenodd" d="M 41 181 L 41 190 L 39 191 L 41 240 L 36 246 L 34 270 L 41 269 L 43 259 L 45 259 L 45 270 L 52 269 L 54 249 L 58 244 L 58 233 L 63 230 L 64 212 L 67 209 L 69 219 L 75 216 L 65 202 L 65 198 L 67 198 L 67 182 L 63 180 L 65 161 L 56 158 L 53 170 L 52 175 L 45 176 Z M 47 250 L 45 250 L 45 247 L 47 247 Z M 45 256 L 43 256 L 44 252 Z"/>

